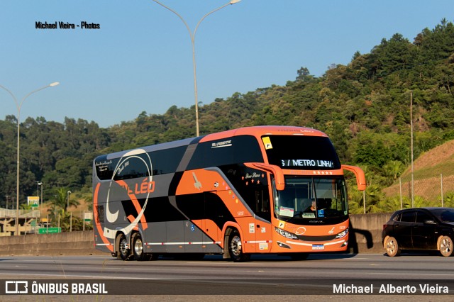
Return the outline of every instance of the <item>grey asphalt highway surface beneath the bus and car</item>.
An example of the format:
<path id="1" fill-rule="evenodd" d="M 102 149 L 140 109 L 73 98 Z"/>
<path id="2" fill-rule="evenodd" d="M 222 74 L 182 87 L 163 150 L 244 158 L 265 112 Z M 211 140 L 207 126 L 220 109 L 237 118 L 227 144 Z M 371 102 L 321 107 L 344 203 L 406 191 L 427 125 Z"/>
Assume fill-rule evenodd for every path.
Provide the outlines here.
<path id="1" fill-rule="evenodd" d="M 41 292 L 35 293 L 46 295 L 8 293 L 0 296 L 0 301 L 213 301 L 214 297 L 216 301 L 260 302 L 284 297 L 285 301 L 408 301 L 409 297 L 452 301 L 453 267 L 454 257 L 438 255 L 313 254 L 303 261 L 269 255 L 243 263 L 219 256 L 199 261 L 163 258 L 148 262 L 123 262 L 109 255 L 3 257 L 0 293 L 5 293 L 6 281 L 23 280 L 28 281 L 28 289 L 33 282 L 35 286 L 40 284 L 35 289 Z M 78 291 L 73 295 L 49 295 L 49 284 L 54 284 L 52 293 L 58 293 L 58 286 L 62 290 L 65 284 L 69 291 L 74 284 L 79 287 L 76 285 Z M 104 293 L 96 291 L 100 287 Z M 430 296 L 421 296 L 423 289 L 432 291 Z M 446 290 L 448 295 L 443 294 Z M 361 291 L 366 291 L 365 295 L 350 295 Z M 398 291 L 405 294 L 399 295 Z"/>

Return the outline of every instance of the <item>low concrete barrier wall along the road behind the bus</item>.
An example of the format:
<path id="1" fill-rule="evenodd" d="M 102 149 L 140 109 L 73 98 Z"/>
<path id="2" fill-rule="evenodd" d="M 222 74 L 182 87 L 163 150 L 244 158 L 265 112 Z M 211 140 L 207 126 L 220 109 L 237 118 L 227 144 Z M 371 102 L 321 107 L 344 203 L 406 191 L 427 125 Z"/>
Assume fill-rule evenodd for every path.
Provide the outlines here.
<path id="1" fill-rule="evenodd" d="M 382 228 L 391 214 L 350 216 L 349 252 L 382 253 Z M 0 256 L 108 255 L 94 248 L 93 231 L 0 237 Z"/>

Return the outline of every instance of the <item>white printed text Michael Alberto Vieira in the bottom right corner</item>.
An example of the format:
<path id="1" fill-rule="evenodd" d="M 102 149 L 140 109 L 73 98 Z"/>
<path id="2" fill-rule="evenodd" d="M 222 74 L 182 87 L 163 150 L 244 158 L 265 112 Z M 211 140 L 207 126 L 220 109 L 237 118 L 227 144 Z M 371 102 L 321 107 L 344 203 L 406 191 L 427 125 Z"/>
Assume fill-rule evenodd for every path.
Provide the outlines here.
<path id="1" fill-rule="evenodd" d="M 416 286 L 404 285 L 394 286 L 393 284 L 381 284 L 375 286 L 370 285 L 355 285 L 355 284 L 333 284 L 333 293 L 449 293 L 448 286 L 440 286 L 438 284 L 418 284 Z"/>

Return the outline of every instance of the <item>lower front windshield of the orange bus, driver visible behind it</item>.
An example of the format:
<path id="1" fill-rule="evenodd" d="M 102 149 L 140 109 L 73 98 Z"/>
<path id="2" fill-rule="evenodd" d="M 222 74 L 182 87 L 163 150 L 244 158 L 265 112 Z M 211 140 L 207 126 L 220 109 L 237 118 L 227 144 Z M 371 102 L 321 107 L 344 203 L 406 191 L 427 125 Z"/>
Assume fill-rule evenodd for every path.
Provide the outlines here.
<path id="1" fill-rule="evenodd" d="M 274 190 L 275 216 L 302 223 L 314 218 L 341 218 L 348 215 L 343 178 L 285 177 L 285 189 Z"/>

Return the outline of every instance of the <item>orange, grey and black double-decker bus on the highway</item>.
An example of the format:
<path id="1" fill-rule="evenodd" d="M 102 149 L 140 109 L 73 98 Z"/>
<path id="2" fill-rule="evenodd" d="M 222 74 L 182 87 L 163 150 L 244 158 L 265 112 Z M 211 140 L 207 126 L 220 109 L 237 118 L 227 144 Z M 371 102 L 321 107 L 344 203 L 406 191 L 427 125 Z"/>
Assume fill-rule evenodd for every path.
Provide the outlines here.
<path id="1" fill-rule="evenodd" d="M 345 251 L 348 198 L 328 136 L 293 126 L 227 130 L 96 157 L 94 244 L 121 259 Z"/>

